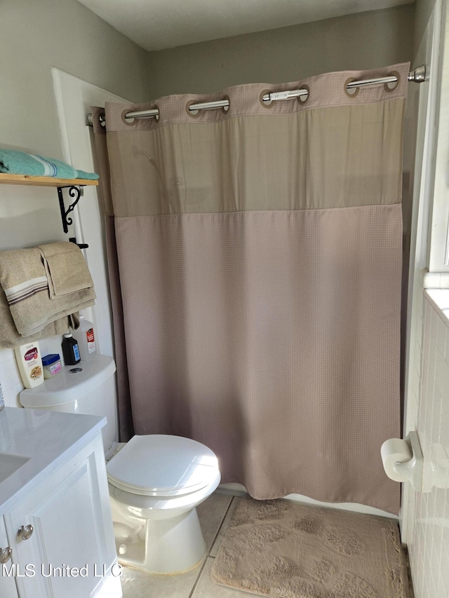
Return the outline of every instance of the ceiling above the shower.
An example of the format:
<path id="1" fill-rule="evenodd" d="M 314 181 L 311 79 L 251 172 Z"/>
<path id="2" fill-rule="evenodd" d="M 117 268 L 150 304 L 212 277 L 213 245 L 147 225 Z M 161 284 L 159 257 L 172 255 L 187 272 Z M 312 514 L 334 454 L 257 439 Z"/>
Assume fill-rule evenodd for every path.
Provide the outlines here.
<path id="1" fill-rule="evenodd" d="M 145 50 L 267 31 L 414 0 L 79 0 Z"/>

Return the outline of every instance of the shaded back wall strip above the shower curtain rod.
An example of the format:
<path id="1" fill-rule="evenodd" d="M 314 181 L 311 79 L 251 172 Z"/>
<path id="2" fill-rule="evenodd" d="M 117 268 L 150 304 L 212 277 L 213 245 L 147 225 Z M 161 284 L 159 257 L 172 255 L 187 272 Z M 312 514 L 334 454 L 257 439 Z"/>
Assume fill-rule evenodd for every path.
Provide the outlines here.
<path id="1" fill-rule="evenodd" d="M 407 62 L 414 15 L 408 4 L 150 52 L 152 99 Z"/>

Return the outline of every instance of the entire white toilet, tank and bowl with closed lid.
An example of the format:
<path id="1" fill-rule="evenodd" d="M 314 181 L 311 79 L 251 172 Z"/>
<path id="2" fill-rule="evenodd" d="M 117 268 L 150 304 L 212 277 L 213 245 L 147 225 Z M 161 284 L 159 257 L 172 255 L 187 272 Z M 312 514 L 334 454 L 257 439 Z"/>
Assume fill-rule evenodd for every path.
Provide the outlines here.
<path id="1" fill-rule="evenodd" d="M 102 430 L 121 564 L 148 573 L 193 569 L 206 553 L 196 507 L 220 483 L 217 457 L 200 442 L 163 434 L 118 443 L 115 363 L 96 355 L 20 393 L 31 409 L 107 417 Z"/>

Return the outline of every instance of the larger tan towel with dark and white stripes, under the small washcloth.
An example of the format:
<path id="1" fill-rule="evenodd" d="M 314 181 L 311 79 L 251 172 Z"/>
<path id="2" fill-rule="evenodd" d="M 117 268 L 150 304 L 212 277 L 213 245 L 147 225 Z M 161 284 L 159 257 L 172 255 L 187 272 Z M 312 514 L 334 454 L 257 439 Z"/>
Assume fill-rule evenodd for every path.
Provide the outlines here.
<path id="1" fill-rule="evenodd" d="M 81 254 L 79 247 L 76 250 Z M 60 271 L 59 276 L 62 276 Z M 95 299 L 92 287 L 50 299 L 46 269 L 38 247 L 0 252 L 0 285 L 21 337 L 37 334 L 51 322 L 92 306 Z M 58 281 L 57 286 L 64 288 L 64 283 Z"/>

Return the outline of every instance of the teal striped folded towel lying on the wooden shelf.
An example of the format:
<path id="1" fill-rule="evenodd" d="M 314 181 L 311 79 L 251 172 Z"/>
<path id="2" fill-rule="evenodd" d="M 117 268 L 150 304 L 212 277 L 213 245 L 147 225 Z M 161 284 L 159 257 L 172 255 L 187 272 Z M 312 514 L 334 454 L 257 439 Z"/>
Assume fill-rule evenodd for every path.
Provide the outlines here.
<path id="1" fill-rule="evenodd" d="M 56 177 L 59 179 L 98 179 L 95 172 L 75 170 L 71 165 L 35 154 L 25 154 L 14 149 L 0 149 L 0 172 L 31 177 Z"/>

